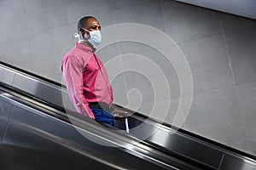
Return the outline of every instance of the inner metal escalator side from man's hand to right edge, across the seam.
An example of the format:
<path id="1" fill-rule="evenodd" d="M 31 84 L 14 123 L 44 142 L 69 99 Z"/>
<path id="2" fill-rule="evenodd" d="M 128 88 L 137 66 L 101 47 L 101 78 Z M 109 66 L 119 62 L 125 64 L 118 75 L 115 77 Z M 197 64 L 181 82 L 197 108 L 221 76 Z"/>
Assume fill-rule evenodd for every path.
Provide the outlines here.
<path id="1" fill-rule="evenodd" d="M 182 133 L 154 126 L 147 120 L 129 117 L 130 133 L 139 139 L 144 139 L 151 144 L 157 144 L 163 150 L 176 153 L 189 160 L 194 160 L 218 170 L 256 170 L 256 161 L 247 157 L 235 156 L 229 151 L 220 150 L 213 145 L 206 144 L 200 140 L 189 138 Z M 119 126 L 124 129 L 124 121 L 119 121 Z"/>

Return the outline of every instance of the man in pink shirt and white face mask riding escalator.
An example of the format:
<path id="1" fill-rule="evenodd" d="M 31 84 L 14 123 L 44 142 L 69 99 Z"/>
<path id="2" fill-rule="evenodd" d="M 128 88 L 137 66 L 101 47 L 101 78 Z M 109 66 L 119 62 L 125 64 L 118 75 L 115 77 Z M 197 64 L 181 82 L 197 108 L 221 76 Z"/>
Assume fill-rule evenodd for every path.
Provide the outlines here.
<path id="1" fill-rule="evenodd" d="M 102 41 L 101 26 L 95 17 L 85 16 L 79 20 L 78 32 L 79 42 L 61 65 L 69 98 L 79 114 L 115 127 L 114 117 L 120 117 L 122 111 L 113 109 L 107 71 L 94 54 Z"/>

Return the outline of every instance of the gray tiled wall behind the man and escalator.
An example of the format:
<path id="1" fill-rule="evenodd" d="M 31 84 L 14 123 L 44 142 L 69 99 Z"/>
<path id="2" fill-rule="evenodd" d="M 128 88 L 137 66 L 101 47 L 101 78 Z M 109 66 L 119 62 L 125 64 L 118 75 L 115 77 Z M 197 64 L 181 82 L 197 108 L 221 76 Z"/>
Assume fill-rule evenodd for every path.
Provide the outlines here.
<path id="1" fill-rule="evenodd" d="M 113 43 L 96 52 L 111 77 L 115 103 L 256 155 L 255 20 L 172 0 L 5 0 L 0 59 L 61 82 L 61 59 L 73 48 L 84 15 L 95 15 L 102 32 L 113 24 L 140 24 L 106 31 L 103 41 Z M 143 32 L 142 25 L 160 34 Z M 162 33 L 173 42 L 160 40 Z M 118 42 L 124 36 L 144 42 Z M 189 83 L 180 93 L 176 69 L 183 55 L 193 95 Z M 188 73 L 181 72 L 186 81 Z M 189 113 L 177 113 L 180 99 L 189 105 L 191 98 Z"/>

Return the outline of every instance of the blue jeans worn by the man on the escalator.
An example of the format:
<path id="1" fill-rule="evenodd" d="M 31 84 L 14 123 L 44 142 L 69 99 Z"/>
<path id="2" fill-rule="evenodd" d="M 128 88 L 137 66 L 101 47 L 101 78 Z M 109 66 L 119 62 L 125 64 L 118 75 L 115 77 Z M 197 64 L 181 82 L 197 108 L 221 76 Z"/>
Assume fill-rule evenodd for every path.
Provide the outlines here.
<path id="1" fill-rule="evenodd" d="M 90 110 L 93 112 L 96 121 L 116 127 L 113 115 L 103 111 L 102 109 L 96 109 L 94 107 L 91 107 Z"/>

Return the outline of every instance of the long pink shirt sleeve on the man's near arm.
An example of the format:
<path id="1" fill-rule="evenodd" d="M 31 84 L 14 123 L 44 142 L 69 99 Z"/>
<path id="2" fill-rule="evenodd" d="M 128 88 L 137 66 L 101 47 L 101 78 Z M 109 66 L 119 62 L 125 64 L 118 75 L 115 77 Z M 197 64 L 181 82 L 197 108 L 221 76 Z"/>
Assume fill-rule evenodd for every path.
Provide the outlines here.
<path id="1" fill-rule="evenodd" d="M 90 116 L 90 118 L 95 119 L 83 94 L 83 63 L 79 62 L 78 59 L 73 56 L 68 56 L 62 70 L 69 98 L 76 108 L 76 111 L 81 115 Z"/>

